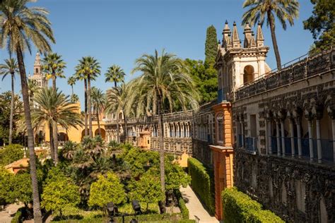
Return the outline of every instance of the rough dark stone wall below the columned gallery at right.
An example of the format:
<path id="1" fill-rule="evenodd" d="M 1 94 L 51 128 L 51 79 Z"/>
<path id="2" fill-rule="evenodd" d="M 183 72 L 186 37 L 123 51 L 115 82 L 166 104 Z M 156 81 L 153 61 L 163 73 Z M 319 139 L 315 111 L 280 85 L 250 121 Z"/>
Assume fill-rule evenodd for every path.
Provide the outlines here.
<path id="1" fill-rule="evenodd" d="M 237 188 L 286 221 L 335 222 L 334 166 L 237 149 L 234 172 Z"/>

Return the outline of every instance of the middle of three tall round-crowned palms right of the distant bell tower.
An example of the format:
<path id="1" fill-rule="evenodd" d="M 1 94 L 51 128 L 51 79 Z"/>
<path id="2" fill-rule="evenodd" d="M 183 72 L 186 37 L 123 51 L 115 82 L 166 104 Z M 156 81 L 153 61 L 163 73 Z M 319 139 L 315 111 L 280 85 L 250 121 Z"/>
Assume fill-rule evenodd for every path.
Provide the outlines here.
<path id="1" fill-rule="evenodd" d="M 84 80 L 85 85 L 85 136 L 90 135 L 92 138 L 92 109 L 90 102 L 90 80 L 100 74 L 100 63 L 92 56 L 86 56 L 79 60 L 79 64 L 76 66 L 76 77 L 79 80 Z M 87 114 L 88 111 L 88 114 Z M 88 115 L 88 126 L 89 134 L 87 134 L 87 115 Z"/>

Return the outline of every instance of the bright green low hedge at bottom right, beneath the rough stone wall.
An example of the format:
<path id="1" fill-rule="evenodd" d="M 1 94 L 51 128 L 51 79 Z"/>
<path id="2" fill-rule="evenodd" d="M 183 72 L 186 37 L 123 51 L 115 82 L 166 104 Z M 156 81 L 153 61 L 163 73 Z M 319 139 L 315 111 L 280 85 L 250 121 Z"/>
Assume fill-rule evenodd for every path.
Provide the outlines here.
<path id="1" fill-rule="evenodd" d="M 260 203 L 236 188 L 225 188 L 222 200 L 225 222 L 284 222 L 273 212 L 262 210 Z"/>

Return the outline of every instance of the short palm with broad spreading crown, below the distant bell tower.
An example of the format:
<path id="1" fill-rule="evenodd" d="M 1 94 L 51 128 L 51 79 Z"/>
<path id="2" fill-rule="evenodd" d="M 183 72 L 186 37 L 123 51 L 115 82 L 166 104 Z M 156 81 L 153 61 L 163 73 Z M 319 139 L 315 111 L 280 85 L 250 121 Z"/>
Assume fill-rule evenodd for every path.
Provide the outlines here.
<path id="1" fill-rule="evenodd" d="M 34 97 L 34 102 L 37 104 L 37 108 L 33 108 L 32 111 L 32 121 L 35 128 L 39 128 L 45 123 L 51 123 L 51 126 L 56 126 L 57 123 L 65 129 L 69 127 L 81 126 L 81 116 L 76 113 L 76 104 L 69 100 L 69 96 L 65 96 L 62 92 L 59 92 L 52 88 L 42 88 Z M 51 133 L 53 135 L 53 140 L 58 143 L 58 135 Z M 51 151 L 52 152 L 52 151 Z M 54 147 L 54 163 L 58 162 L 58 148 Z"/>

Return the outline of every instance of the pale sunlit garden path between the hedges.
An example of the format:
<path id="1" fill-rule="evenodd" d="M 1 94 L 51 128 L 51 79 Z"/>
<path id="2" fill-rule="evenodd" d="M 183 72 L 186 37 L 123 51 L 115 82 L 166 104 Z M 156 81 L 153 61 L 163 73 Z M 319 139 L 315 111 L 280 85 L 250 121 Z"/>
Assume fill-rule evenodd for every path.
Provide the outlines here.
<path id="1" fill-rule="evenodd" d="M 215 217 L 208 214 L 199 198 L 189 185 L 186 188 L 181 187 L 180 192 L 182 193 L 182 198 L 184 198 L 186 207 L 189 210 L 189 219 L 198 219 L 201 223 L 218 222 Z"/>

